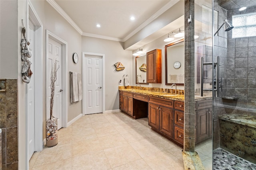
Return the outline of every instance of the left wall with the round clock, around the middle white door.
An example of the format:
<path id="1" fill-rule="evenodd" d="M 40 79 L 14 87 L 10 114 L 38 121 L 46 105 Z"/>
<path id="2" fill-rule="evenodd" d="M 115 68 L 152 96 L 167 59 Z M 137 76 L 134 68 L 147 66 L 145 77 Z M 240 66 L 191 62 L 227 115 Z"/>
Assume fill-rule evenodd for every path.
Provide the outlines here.
<path id="1" fill-rule="evenodd" d="M 66 21 L 50 4 L 46 1 L 31 1 L 33 7 L 35 8 L 40 20 L 43 23 L 43 56 L 45 56 L 45 30 L 52 32 L 57 37 L 63 39 L 68 43 L 68 76 L 69 71 L 82 73 L 82 51 L 81 51 L 81 35 L 72 27 L 68 21 Z M 74 64 L 72 61 L 73 53 L 77 53 L 79 57 L 79 62 Z M 45 68 L 46 63 L 45 59 L 43 59 L 43 79 L 45 80 Z M 64 89 L 65 90 L 65 89 Z M 68 122 L 77 117 L 82 113 L 82 101 L 76 103 L 70 103 L 70 84 L 68 77 Z M 45 84 L 44 84 L 44 94 L 45 93 Z M 44 102 L 46 102 L 46 96 L 44 95 Z M 44 103 L 44 106 L 46 104 Z M 45 109 L 45 108 L 44 108 Z M 44 110 L 44 119 L 46 119 L 45 114 L 47 110 Z"/>

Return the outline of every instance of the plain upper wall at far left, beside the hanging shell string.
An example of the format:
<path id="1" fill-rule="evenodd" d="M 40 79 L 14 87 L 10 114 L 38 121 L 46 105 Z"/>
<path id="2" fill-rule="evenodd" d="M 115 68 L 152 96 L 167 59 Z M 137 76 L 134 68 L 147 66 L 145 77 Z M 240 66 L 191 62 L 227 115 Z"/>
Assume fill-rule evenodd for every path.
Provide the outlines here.
<path id="1" fill-rule="evenodd" d="M 18 78 L 18 1 L 0 0 L 1 78 Z"/>

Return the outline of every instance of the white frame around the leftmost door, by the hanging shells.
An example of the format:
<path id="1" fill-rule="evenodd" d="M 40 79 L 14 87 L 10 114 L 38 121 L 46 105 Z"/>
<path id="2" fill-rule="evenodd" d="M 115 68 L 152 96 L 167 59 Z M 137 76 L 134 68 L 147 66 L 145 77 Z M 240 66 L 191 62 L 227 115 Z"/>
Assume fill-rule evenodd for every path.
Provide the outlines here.
<path id="1" fill-rule="evenodd" d="M 26 27 L 28 28 L 29 20 L 32 21 L 35 26 L 34 30 L 34 122 L 35 122 L 35 151 L 40 151 L 43 149 L 43 24 L 36 13 L 36 10 L 32 6 L 31 2 L 28 1 L 26 10 Z M 26 167 L 29 166 L 28 158 L 28 117 L 26 117 Z"/>

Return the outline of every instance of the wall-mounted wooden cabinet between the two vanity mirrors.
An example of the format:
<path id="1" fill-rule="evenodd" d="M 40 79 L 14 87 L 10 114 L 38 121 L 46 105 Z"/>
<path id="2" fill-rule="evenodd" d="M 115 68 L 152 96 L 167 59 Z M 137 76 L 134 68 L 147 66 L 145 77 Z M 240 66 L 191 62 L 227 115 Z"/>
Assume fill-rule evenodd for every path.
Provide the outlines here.
<path id="1" fill-rule="evenodd" d="M 147 53 L 147 83 L 162 83 L 162 50 Z"/>

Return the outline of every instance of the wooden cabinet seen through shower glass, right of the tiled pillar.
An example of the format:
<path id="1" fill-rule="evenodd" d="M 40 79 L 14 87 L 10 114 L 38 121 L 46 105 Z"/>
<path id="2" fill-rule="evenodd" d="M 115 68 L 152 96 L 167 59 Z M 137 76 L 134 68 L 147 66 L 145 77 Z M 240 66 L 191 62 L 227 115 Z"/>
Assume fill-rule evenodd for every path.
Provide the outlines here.
<path id="1" fill-rule="evenodd" d="M 202 143 L 212 137 L 212 100 L 196 102 L 196 141 Z"/>

